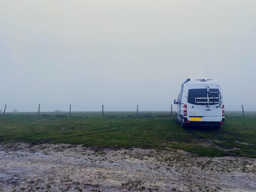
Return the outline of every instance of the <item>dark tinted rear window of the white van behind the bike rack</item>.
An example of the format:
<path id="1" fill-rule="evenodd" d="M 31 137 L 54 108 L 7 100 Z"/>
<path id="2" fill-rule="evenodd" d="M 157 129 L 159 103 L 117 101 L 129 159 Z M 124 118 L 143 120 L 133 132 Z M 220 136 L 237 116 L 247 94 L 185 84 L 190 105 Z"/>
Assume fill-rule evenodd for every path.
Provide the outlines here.
<path id="1" fill-rule="evenodd" d="M 219 89 L 210 89 L 210 92 L 219 92 Z M 189 89 L 188 90 L 188 103 L 194 105 L 206 105 L 207 103 L 195 103 L 195 98 L 205 98 L 207 97 L 207 89 Z M 219 97 L 219 93 L 211 93 L 209 97 Z M 200 102 L 207 102 L 207 99 L 197 99 Z M 220 99 L 210 99 L 210 102 L 219 102 Z M 215 105 L 215 103 L 210 103 L 210 105 Z"/>

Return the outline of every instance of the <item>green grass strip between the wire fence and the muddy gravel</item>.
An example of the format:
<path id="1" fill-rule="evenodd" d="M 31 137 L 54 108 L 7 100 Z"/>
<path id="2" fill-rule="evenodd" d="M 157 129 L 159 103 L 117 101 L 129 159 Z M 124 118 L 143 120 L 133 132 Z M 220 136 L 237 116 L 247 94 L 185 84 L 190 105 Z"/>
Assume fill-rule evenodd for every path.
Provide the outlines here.
<path id="1" fill-rule="evenodd" d="M 213 127 L 182 129 L 174 116 L 134 117 L 118 113 L 104 117 L 0 115 L 0 143 L 23 141 L 88 147 L 181 149 L 199 156 L 256 158 L 255 113 L 245 118 L 227 113 L 220 130 Z"/>

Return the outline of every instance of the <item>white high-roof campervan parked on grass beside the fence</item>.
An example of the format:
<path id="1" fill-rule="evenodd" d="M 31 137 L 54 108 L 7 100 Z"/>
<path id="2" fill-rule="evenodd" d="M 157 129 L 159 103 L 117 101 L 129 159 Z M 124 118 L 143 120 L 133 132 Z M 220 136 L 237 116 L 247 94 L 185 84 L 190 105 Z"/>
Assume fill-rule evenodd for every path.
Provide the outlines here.
<path id="1" fill-rule="evenodd" d="M 225 120 L 223 97 L 218 81 L 187 79 L 181 85 L 177 104 L 177 120 L 183 128 L 188 125 L 211 125 L 220 128 Z"/>

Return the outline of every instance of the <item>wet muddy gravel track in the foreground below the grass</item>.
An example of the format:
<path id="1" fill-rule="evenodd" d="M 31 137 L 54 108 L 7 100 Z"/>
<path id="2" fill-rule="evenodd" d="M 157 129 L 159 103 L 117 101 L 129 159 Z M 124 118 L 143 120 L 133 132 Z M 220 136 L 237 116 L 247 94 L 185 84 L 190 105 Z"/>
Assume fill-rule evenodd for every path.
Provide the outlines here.
<path id="1" fill-rule="evenodd" d="M 0 191 L 256 191 L 256 159 L 166 149 L 0 146 Z"/>

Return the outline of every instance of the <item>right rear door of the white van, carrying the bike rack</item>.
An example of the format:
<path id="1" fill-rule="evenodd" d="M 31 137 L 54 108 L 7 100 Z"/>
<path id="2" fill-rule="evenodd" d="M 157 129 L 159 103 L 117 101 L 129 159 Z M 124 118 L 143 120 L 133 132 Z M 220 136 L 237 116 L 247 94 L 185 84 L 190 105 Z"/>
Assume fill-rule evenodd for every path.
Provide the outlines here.
<path id="1" fill-rule="evenodd" d="M 212 93 L 212 92 L 219 92 L 219 86 L 218 85 L 207 85 L 205 83 L 205 88 L 207 90 L 207 87 L 209 87 L 210 94 L 209 97 L 219 97 L 219 93 Z M 222 120 L 222 104 L 220 105 L 220 99 L 210 99 L 210 102 L 216 102 L 216 103 L 210 103 L 209 105 L 205 105 L 205 121 L 221 121 Z M 209 107 L 208 107 L 209 106 Z"/>

